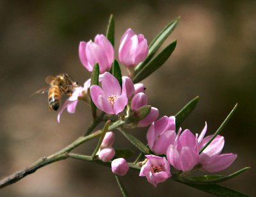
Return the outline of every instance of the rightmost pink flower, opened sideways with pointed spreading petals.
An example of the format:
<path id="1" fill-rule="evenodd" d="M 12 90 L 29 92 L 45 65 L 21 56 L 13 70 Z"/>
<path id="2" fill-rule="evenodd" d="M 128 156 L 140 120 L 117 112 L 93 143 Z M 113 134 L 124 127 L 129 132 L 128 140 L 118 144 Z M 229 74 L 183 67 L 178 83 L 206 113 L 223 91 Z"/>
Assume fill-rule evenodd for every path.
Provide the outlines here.
<path id="1" fill-rule="evenodd" d="M 205 127 L 198 137 L 199 150 L 201 150 L 204 145 L 211 140 L 212 135 L 204 138 L 207 131 L 207 123 L 205 122 Z M 224 137 L 217 135 L 214 140 L 201 152 L 199 155 L 200 168 L 205 171 L 215 172 L 225 170 L 230 166 L 236 159 L 236 154 L 220 154 L 224 147 Z"/>

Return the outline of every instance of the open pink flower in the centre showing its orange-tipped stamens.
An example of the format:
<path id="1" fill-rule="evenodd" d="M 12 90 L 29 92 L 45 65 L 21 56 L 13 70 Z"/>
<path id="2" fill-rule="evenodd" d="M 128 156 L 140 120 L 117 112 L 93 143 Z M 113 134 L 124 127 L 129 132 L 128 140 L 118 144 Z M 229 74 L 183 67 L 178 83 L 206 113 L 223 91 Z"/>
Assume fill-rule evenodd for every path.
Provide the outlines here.
<path id="1" fill-rule="evenodd" d="M 121 87 L 118 80 L 110 73 L 104 73 L 102 77 L 102 88 L 92 85 L 91 96 L 93 103 L 109 114 L 122 112 L 128 103 L 127 96 L 121 95 Z"/>

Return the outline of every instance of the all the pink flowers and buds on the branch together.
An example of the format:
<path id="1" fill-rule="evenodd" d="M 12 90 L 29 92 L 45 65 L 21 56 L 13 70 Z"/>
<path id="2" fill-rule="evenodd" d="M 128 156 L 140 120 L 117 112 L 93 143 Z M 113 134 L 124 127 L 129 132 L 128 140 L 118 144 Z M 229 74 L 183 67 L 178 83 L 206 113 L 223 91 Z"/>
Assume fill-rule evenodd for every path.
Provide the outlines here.
<path id="1" fill-rule="evenodd" d="M 224 137 L 216 135 L 205 136 L 207 124 L 200 135 L 194 135 L 185 129 L 176 128 L 174 116 L 163 116 L 156 120 L 159 110 L 150 106 L 146 115 L 140 117 L 140 109 L 148 105 L 147 95 L 143 84 L 134 84 L 132 76 L 136 66 L 148 55 L 147 40 L 142 34 L 136 35 L 132 29 L 128 29 L 120 41 L 119 60 L 128 69 L 129 77 L 123 76 L 122 83 L 112 75 L 111 68 L 115 58 L 114 48 L 111 42 L 102 34 L 95 36 L 95 41 L 87 43 L 81 41 L 79 45 L 79 58 L 88 71 L 93 71 L 93 66 L 99 64 L 100 84 L 91 85 L 88 79 L 83 87 L 76 87 L 70 98 L 65 101 L 58 113 L 60 115 L 65 108 L 69 113 L 76 111 L 77 101 L 92 102 L 99 110 L 110 115 L 118 115 L 118 120 L 130 128 L 149 126 L 147 142 L 150 151 L 154 154 L 145 155 L 146 159 L 141 163 L 140 176 L 147 177 L 154 187 L 172 177 L 170 166 L 188 175 L 193 170 L 215 172 L 230 166 L 236 159 L 236 154 L 221 154 L 224 147 Z M 140 119 L 131 122 L 129 117 L 138 115 Z M 127 121 L 129 120 L 129 121 Z M 124 125 L 125 126 L 125 125 Z M 128 127 L 129 128 L 129 127 Z M 103 162 L 108 162 L 115 156 L 112 144 L 115 140 L 113 132 L 106 133 L 97 156 Z M 125 175 L 129 164 L 124 158 L 111 161 L 113 173 Z"/>

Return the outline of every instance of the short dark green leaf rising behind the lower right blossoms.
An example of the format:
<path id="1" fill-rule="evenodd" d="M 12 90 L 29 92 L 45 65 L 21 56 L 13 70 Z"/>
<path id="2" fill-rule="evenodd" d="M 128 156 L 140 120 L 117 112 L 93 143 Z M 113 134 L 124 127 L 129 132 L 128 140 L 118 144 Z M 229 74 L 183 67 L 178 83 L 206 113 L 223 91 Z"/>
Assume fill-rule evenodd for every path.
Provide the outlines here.
<path id="1" fill-rule="evenodd" d="M 196 104 L 198 103 L 199 96 L 196 96 L 192 101 L 190 101 L 184 108 L 182 108 L 176 115 L 175 115 L 175 124 L 176 124 L 176 131 L 179 129 L 180 124 L 188 117 L 188 115 L 194 110 Z"/>

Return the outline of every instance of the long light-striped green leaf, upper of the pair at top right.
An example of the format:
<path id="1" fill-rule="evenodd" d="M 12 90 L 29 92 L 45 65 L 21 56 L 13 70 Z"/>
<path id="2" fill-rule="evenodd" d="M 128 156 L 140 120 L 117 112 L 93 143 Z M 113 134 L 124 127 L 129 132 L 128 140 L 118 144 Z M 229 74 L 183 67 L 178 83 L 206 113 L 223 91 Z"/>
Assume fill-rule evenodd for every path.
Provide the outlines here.
<path id="1" fill-rule="evenodd" d="M 141 69 L 143 69 L 144 66 L 152 59 L 154 54 L 156 54 L 156 51 L 158 50 L 158 48 L 161 47 L 161 45 L 163 44 L 164 40 L 166 40 L 166 38 L 168 38 L 168 36 L 175 29 L 179 20 L 180 20 L 180 17 L 172 20 L 172 22 L 170 22 L 166 27 L 164 27 L 164 29 L 156 36 L 156 38 L 154 38 L 154 40 L 152 41 L 152 43 L 150 43 L 148 47 L 147 57 L 143 62 L 141 62 L 140 64 L 138 64 L 138 66 L 136 66 L 134 74 L 138 73 Z"/>

